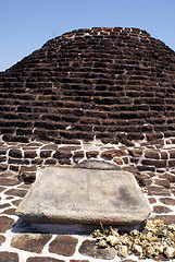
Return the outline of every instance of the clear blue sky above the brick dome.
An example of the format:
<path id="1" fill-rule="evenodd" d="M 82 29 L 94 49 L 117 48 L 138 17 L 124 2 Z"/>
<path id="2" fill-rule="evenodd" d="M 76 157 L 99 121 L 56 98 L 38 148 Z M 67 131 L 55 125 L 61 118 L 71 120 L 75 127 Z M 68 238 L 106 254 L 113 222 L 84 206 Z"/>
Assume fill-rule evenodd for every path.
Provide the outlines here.
<path id="1" fill-rule="evenodd" d="M 175 0 L 0 0 L 0 71 L 55 36 L 96 26 L 146 29 L 175 50 Z"/>

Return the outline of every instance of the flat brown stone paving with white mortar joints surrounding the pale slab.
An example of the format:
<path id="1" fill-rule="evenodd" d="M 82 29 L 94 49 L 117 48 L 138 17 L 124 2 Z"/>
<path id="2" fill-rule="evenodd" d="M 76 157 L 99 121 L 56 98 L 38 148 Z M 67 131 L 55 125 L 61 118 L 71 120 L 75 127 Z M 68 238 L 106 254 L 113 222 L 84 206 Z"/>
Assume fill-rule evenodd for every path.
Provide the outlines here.
<path id="1" fill-rule="evenodd" d="M 0 175 L 0 261 L 14 262 L 88 262 L 122 261 L 112 248 L 98 249 L 92 238 L 80 226 L 60 225 L 58 230 L 37 229 L 20 221 L 15 209 L 30 188 L 17 180 L 17 172 L 2 171 Z M 149 200 L 152 215 L 150 218 L 162 218 L 165 223 L 175 223 L 175 196 L 166 189 L 148 192 L 142 190 Z M 16 223 L 16 224 L 15 224 Z M 50 231 L 50 233 L 49 233 Z M 127 261 L 138 261 L 134 255 Z"/>

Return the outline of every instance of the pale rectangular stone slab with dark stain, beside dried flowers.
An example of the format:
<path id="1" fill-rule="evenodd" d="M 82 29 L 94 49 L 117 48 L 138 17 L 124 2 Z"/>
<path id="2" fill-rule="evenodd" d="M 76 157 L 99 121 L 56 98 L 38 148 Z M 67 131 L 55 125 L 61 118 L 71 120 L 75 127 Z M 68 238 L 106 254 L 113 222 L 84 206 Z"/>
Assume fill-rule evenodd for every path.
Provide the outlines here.
<path id="1" fill-rule="evenodd" d="M 33 223 L 132 225 L 149 214 L 133 174 L 59 167 L 42 169 L 16 210 Z"/>

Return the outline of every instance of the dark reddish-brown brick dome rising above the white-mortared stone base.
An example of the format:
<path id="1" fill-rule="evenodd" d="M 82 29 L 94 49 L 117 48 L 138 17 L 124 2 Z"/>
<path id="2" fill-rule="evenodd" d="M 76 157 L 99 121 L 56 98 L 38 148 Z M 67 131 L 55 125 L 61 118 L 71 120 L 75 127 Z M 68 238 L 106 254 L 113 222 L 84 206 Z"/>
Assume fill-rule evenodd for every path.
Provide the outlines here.
<path id="1" fill-rule="evenodd" d="M 175 136 L 175 52 L 137 28 L 78 29 L 0 73 L 8 142 Z"/>

